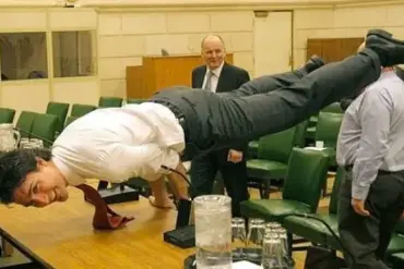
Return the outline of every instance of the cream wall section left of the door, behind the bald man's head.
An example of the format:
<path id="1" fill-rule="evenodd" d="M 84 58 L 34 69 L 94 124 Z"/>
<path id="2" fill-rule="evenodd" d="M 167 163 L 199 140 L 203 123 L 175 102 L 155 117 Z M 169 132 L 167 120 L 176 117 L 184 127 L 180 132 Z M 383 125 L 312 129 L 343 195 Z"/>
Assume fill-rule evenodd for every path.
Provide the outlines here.
<path id="1" fill-rule="evenodd" d="M 253 12 L 107 12 L 99 14 L 100 94 L 124 97 L 126 66 L 142 56 L 199 54 L 202 38 L 222 35 L 234 63 L 253 75 Z"/>

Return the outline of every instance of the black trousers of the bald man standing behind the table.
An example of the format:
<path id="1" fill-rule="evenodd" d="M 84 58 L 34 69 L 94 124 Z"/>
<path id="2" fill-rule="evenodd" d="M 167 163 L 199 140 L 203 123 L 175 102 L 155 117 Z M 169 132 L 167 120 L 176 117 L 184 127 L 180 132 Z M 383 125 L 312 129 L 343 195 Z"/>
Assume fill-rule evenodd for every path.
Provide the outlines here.
<path id="1" fill-rule="evenodd" d="M 219 171 L 227 191 L 231 197 L 233 217 L 240 217 L 240 203 L 249 199 L 247 185 L 246 152 L 242 161 L 227 161 L 228 148 L 219 149 L 192 159 L 191 180 L 198 195 L 212 194 L 215 175 Z"/>

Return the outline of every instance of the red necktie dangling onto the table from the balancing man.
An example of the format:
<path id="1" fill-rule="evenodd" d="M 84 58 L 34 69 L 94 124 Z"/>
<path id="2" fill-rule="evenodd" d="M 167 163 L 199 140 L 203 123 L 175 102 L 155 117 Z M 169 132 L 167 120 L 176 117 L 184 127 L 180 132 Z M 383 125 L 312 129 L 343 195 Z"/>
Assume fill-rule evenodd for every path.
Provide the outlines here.
<path id="1" fill-rule="evenodd" d="M 95 206 L 95 213 L 93 219 L 93 227 L 97 230 L 115 230 L 121 228 L 131 220 L 133 217 L 121 217 L 110 209 L 99 193 L 86 184 L 75 186 L 84 193 L 85 200 Z"/>

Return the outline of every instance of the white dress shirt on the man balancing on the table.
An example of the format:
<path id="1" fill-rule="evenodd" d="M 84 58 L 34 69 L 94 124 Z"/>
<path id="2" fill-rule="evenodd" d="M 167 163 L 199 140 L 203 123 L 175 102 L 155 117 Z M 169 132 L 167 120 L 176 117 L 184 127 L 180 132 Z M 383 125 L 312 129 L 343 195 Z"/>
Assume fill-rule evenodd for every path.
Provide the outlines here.
<path id="1" fill-rule="evenodd" d="M 164 172 L 162 166 L 178 166 L 183 148 L 183 130 L 174 113 L 144 102 L 79 118 L 54 143 L 52 161 L 70 185 L 85 179 L 154 181 Z"/>

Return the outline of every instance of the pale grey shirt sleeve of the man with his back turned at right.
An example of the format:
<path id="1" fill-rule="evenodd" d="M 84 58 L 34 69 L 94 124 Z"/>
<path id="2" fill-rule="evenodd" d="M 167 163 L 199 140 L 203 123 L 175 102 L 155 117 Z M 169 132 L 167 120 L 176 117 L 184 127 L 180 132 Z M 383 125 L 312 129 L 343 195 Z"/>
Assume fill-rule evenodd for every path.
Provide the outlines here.
<path id="1" fill-rule="evenodd" d="M 361 136 L 353 168 L 352 196 L 366 199 L 370 184 L 389 150 L 392 99 L 385 88 L 372 88 L 365 93 L 359 108 Z"/>

